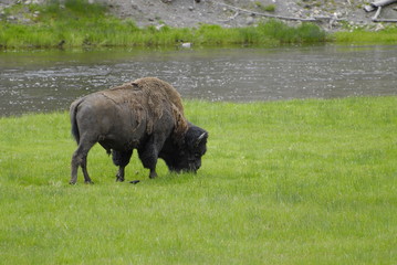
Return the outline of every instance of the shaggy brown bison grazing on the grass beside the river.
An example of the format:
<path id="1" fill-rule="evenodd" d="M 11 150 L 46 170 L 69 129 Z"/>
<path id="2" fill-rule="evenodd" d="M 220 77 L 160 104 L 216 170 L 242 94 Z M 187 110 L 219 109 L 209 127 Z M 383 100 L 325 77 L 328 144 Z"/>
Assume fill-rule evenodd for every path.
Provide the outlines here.
<path id="1" fill-rule="evenodd" d="M 196 172 L 207 150 L 208 132 L 188 123 L 179 93 L 155 77 L 79 98 L 72 103 L 70 115 L 79 145 L 72 157 L 71 184 L 77 181 L 79 166 L 85 182 L 92 183 L 86 160 L 96 142 L 112 153 L 113 162 L 119 167 L 117 181 L 124 181 L 124 168 L 134 149 L 150 170 L 149 178 L 157 177 L 158 158 L 170 171 Z"/>

